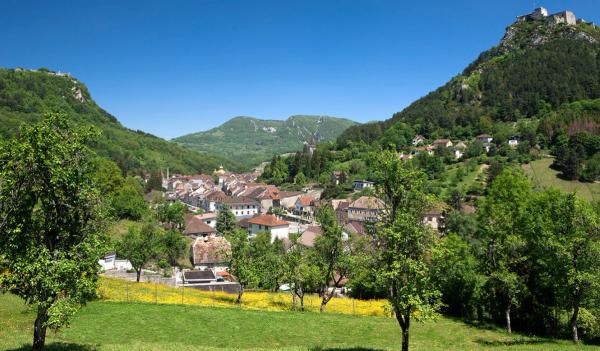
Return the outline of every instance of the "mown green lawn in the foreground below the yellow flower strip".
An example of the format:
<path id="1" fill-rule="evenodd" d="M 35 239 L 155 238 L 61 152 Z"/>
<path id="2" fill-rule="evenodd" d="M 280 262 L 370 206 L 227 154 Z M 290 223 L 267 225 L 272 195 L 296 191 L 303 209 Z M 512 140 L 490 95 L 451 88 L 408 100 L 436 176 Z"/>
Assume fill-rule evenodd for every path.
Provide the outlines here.
<path id="1" fill-rule="evenodd" d="M 0 349 L 30 349 L 34 313 L 0 295 Z M 49 350 L 397 350 L 400 329 L 386 317 L 251 311 L 97 301 L 70 327 L 49 332 Z M 592 350 L 565 340 L 477 328 L 441 318 L 413 323 L 411 350 Z"/>

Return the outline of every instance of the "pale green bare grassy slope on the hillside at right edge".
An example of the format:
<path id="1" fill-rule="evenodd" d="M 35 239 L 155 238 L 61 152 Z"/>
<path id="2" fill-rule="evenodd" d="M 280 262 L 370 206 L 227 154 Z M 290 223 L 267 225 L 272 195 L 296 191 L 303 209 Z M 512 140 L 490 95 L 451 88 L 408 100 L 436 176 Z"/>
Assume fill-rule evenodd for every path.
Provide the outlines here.
<path id="1" fill-rule="evenodd" d="M 600 183 L 583 183 L 569 181 L 558 177 L 558 171 L 550 168 L 554 159 L 543 158 L 523 165 L 525 173 L 531 176 L 533 185 L 538 189 L 557 188 L 565 192 L 576 191 L 577 194 L 589 201 L 600 200 Z"/>

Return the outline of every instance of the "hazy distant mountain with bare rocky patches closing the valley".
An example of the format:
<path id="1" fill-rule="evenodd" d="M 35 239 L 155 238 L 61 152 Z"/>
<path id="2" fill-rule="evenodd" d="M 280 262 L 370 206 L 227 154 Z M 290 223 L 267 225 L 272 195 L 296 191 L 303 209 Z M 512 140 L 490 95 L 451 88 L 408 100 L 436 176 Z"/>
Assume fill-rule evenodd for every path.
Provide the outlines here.
<path id="1" fill-rule="evenodd" d="M 292 116 L 285 121 L 235 117 L 217 128 L 173 141 L 251 167 L 275 154 L 300 150 L 304 142 L 335 140 L 353 125 L 356 122 L 349 119 L 328 116 Z"/>

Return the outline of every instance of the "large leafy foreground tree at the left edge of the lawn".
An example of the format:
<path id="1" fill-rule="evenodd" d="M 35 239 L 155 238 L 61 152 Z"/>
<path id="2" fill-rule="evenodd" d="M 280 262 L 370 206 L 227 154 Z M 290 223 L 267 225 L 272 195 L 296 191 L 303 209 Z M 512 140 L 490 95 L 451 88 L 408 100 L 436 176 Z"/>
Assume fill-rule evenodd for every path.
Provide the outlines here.
<path id="1" fill-rule="evenodd" d="M 55 113 L 0 144 L 0 257 L 10 272 L 0 286 L 35 308 L 34 351 L 46 328 L 96 296 L 103 212 L 86 146 L 96 135 Z"/>

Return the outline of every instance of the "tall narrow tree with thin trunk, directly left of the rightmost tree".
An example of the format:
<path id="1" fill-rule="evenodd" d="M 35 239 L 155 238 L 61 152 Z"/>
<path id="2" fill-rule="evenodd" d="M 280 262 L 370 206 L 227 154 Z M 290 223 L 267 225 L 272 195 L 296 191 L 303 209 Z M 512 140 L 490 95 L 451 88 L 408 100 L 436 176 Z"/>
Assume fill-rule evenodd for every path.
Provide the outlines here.
<path id="1" fill-rule="evenodd" d="M 522 219 L 531 196 L 531 183 L 517 169 L 505 168 L 495 177 L 479 213 L 482 261 L 488 284 L 503 302 L 506 331 L 510 334 L 511 309 L 524 293 L 525 277 L 519 269 L 527 260 Z"/>

